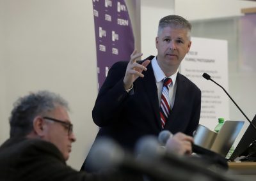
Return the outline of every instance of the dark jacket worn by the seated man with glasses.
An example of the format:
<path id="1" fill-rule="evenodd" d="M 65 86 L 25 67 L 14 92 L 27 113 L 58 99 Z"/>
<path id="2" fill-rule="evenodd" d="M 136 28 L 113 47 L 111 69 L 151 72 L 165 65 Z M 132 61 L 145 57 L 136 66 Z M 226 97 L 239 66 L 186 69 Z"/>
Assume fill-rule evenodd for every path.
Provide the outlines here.
<path id="1" fill-rule="evenodd" d="M 121 173 L 88 174 L 66 165 L 52 143 L 39 139 L 11 138 L 0 147 L 0 180 L 4 181 L 80 181 L 133 180 Z"/>

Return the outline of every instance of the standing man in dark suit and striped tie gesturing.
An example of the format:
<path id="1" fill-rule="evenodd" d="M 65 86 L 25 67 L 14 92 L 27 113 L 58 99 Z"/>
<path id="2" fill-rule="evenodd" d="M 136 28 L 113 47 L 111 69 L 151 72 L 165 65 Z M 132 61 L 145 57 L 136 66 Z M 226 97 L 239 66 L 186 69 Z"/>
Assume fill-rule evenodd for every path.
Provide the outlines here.
<path id="1" fill-rule="evenodd" d="M 134 50 L 129 62 L 117 62 L 109 69 L 92 112 L 93 121 L 100 127 L 96 140 L 110 136 L 133 150 L 139 138 L 157 136 L 163 129 L 193 134 L 200 119 L 201 91 L 178 71 L 191 47 L 190 33 L 188 20 L 177 15 L 161 18 L 156 57 L 136 61 L 142 54 Z M 167 101 L 163 101 L 166 78 L 172 83 L 165 94 Z M 166 105 L 168 113 L 163 113 Z M 88 159 L 90 153 L 84 164 L 86 170 L 90 170 L 86 168 Z"/>

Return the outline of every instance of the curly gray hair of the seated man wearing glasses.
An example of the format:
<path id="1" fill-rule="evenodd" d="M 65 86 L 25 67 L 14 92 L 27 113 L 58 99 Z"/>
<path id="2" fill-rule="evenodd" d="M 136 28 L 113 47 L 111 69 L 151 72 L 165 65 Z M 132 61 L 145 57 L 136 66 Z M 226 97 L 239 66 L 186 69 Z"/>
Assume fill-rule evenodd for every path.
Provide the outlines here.
<path id="1" fill-rule="evenodd" d="M 19 98 L 14 104 L 10 116 L 10 137 L 26 136 L 33 130 L 33 119 L 36 116 L 51 112 L 57 106 L 69 111 L 68 103 L 60 95 L 49 91 L 31 92 Z"/>

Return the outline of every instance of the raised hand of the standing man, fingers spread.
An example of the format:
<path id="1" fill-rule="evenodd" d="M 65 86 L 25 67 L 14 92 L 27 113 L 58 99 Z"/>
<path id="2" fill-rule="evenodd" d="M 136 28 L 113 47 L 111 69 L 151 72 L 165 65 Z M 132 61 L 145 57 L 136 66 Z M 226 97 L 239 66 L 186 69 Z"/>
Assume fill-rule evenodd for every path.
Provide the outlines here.
<path id="1" fill-rule="evenodd" d="M 142 71 L 147 71 L 147 66 L 150 63 L 150 60 L 144 61 L 142 64 L 138 64 L 136 59 L 141 57 L 141 53 L 137 53 L 137 50 L 134 50 L 131 54 L 131 59 L 127 65 L 125 76 L 124 76 L 124 88 L 125 90 L 132 87 L 132 83 L 140 76 L 144 77 Z"/>

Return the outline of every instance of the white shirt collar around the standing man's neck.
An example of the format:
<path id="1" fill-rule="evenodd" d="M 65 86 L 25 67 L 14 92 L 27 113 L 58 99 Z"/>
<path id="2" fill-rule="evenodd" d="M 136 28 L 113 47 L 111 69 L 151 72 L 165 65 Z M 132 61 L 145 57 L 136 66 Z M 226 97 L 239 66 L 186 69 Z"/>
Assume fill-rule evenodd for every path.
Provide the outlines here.
<path id="1" fill-rule="evenodd" d="M 159 67 L 156 57 L 154 57 L 154 59 L 152 59 L 151 64 L 152 64 L 152 68 L 153 68 L 154 75 L 156 78 L 156 82 L 157 83 L 161 82 L 166 76 L 164 75 L 164 72 L 162 71 L 162 69 Z M 177 74 L 178 74 L 178 70 L 173 75 L 169 76 L 169 78 L 172 78 L 173 85 L 176 82 Z"/>

